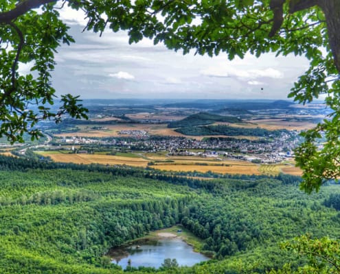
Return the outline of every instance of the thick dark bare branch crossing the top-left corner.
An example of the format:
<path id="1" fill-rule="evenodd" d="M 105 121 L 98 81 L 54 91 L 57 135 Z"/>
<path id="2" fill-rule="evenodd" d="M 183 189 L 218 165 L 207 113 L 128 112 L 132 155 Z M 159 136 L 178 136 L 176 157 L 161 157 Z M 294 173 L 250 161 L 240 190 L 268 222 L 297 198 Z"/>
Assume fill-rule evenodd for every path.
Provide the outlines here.
<path id="1" fill-rule="evenodd" d="M 34 8 L 38 8 L 41 5 L 56 2 L 56 0 L 24 0 L 20 2 L 13 10 L 9 10 L 8 12 L 0 13 L 0 23 L 9 23 L 13 21 L 15 18 L 25 14 L 29 10 Z"/>

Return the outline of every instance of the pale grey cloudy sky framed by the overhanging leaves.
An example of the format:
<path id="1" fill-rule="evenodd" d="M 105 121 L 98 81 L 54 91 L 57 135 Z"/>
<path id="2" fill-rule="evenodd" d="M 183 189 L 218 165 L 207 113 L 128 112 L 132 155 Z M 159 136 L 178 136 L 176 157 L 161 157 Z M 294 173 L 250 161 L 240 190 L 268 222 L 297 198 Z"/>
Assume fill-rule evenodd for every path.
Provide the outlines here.
<path id="1" fill-rule="evenodd" d="M 52 82 L 58 94 L 82 99 L 286 99 L 308 66 L 294 56 L 247 55 L 231 62 L 225 54 L 182 55 L 146 39 L 128 45 L 124 32 L 99 37 L 82 32 L 81 13 L 65 7 L 60 14 L 76 43 L 56 54 Z"/>

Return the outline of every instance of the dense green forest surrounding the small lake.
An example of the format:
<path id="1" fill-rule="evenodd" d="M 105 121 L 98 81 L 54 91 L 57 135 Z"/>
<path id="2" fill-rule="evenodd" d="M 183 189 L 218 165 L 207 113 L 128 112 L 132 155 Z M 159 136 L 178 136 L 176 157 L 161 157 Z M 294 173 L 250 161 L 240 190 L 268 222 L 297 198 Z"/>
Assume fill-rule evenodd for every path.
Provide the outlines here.
<path id="1" fill-rule="evenodd" d="M 199 236 L 214 260 L 159 273 L 297 269 L 306 259 L 280 242 L 339 236 L 337 185 L 306 195 L 290 175 L 198 180 L 152 172 L 0 156 L 0 272 L 122 273 L 104 256 L 110 247 L 175 223 Z"/>

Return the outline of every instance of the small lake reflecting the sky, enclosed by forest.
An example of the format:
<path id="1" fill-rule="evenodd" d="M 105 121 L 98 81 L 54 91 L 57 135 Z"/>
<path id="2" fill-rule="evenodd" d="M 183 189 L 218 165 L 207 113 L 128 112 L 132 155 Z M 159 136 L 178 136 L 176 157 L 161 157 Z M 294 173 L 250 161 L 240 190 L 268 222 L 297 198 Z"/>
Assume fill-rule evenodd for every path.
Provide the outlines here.
<path id="1" fill-rule="evenodd" d="M 192 266 L 199 262 L 209 260 L 201 253 L 194 252 L 192 247 L 181 238 L 159 238 L 135 242 L 130 247 L 111 249 L 109 256 L 113 263 L 126 269 L 130 260 L 131 266 L 150 266 L 156 269 L 161 266 L 164 259 L 176 259 L 179 266 Z"/>

